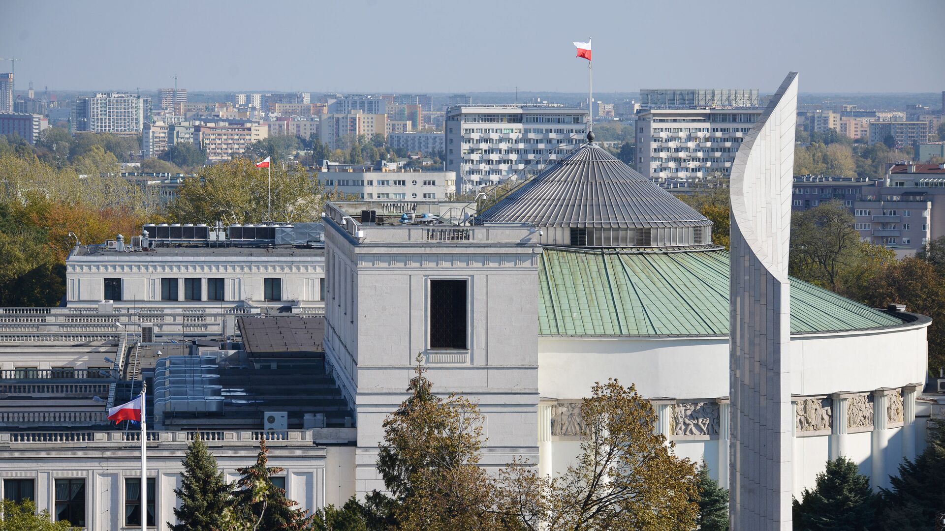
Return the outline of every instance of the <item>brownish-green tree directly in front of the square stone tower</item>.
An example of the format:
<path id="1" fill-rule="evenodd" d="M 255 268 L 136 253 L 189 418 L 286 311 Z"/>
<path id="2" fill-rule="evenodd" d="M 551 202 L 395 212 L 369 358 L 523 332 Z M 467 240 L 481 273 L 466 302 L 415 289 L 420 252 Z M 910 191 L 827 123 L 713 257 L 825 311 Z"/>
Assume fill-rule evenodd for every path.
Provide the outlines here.
<path id="1" fill-rule="evenodd" d="M 477 466 L 483 417 L 468 399 L 438 397 L 418 364 L 410 396 L 384 422 L 377 470 L 401 529 L 501 529 L 495 489 Z"/>

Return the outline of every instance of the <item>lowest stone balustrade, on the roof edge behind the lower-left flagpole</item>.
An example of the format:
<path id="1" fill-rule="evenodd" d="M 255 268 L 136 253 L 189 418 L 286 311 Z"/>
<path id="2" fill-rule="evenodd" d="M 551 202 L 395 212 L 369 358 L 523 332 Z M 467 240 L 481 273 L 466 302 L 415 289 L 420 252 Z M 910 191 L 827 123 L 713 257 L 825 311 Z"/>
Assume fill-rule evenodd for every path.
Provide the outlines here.
<path id="1" fill-rule="evenodd" d="M 266 439 L 268 446 L 314 445 L 318 443 L 348 443 L 356 440 L 355 428 L 314 428 L 309 430 L 283 431 L 148 431 L 148 446 L 162 444 L 186 445 L 199 434 L 211 446 L 257 445 L 260 439 Z M 102 445 L 122 447 L 128 443 L 141 443 L 141 432 L 129 431 L 60 431 L 60 432 L 9 432 L 0 433 L 0 445 L 10 447 L 29 447 L 54 443 L 68 447 Z"/>

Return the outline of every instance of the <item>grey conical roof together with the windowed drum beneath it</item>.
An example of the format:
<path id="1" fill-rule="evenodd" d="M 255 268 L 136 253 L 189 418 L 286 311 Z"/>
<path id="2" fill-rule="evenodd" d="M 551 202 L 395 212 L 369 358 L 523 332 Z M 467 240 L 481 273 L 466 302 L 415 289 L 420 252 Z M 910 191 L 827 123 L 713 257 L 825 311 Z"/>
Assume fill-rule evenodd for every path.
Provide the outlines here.
<path id="1" fill-rule="evenodd" d="M 711 221 L 593 142 L 526 181 L 475 223 L 529 223 L 541 229 L 544 245 L 712 245 Z"/>

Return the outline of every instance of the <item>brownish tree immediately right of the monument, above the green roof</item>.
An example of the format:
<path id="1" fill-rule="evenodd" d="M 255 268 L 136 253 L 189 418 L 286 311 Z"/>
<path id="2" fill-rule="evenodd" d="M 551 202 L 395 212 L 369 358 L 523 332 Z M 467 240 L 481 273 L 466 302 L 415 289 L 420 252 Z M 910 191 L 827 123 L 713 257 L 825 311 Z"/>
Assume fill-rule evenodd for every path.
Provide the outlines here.
<path id="1" fill-rule="evenodd" d="M 840 201 L 795 212 L 791 218 L 791 274 L 839 292 L 841 275 L 859 257 L 860 234 Z"/>

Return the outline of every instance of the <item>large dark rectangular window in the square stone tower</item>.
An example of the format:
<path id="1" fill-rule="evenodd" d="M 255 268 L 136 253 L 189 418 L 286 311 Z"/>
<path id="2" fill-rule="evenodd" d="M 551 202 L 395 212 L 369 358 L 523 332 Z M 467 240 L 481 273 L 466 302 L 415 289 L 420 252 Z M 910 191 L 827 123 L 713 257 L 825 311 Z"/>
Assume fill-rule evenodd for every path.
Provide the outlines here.
<path id="1" fill-rule="evenodd" d="M 430 348 L 463 350 L 467 346 L 467 284 L 463 280 L 430 281 Z"/>

